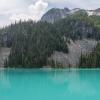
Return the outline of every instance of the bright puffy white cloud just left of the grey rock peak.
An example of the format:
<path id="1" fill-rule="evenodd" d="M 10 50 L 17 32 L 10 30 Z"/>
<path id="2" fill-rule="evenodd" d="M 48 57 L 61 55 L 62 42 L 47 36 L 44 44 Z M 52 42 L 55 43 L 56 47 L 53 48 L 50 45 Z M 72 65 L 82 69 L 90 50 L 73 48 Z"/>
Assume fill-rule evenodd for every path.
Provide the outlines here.
<path id="1" fill-rule="evenodd" d="M 38 0 L 37 2 L 35 2 L 35 4 L 29 5 L 26 9 L 26 12 L 12 14 L 10 20 L 12 22 L 19 20 L 27 21 L 29 19 L 37 21 L 45 13 L 47 7 L 48 7 L 47 2 L 44 2 L 43 0 Z"/>

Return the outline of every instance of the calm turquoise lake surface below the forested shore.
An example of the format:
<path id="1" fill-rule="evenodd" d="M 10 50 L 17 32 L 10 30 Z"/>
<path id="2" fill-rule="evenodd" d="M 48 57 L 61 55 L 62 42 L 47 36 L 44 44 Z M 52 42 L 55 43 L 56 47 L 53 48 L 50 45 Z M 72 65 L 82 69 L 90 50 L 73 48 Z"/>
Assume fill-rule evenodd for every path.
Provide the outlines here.
<path id="1" fill-rule="evenodd" d="M 0 100 L 100 100 L 100 70 L 1 70 Z"/>

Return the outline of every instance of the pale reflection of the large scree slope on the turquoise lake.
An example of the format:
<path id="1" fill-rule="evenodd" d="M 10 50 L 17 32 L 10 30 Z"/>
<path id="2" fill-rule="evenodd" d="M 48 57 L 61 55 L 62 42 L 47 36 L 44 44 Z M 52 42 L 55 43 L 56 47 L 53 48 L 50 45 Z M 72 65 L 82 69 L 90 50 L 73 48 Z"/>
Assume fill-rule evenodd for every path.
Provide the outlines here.
<path id="1" fill-rule="evenodd" d="M 92 71 L 93 72 L 93 71 Z M 95 72 L 95 71 L 94 71 Z M 94 72 L 92 74 L 94 74 Z M 66 84 L 66 93 L 78 94 L 78 95 L 95 95 L 97 91 L 92 81 L 85 79 L 88 78 L 88 71 L 83 73 L 83 78 L 80 76 L 78 70 L 67 70 L 67 71 L 54 71 L 51 79 L 58 84 Z M 89 77 L 93 78 L 93 77 Z"/>

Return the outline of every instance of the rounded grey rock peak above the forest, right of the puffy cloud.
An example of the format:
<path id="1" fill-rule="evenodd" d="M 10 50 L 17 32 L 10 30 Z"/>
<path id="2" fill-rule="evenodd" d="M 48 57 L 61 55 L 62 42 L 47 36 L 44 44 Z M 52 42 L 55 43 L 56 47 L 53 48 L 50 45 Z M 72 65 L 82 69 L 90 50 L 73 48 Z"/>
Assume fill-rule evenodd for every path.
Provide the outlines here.
<path id="1" fill-rule="evenodd" d="M 59 9 L 52 8 L 41 18 L 41 21 L 46 21 L 49 23 L 54 23 L 55 21 L 66 17 L 69 14 L 70 10 L 68 8 Z"/>

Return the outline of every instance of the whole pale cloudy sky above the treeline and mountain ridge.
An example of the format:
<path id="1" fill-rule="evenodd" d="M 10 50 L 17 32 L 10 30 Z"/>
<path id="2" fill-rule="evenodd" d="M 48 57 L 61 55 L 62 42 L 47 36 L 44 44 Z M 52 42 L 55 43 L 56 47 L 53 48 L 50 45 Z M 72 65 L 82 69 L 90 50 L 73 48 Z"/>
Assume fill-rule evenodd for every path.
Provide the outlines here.
<path id="1" fill-rule="evenodd" d="M 21 20 L 39 20 L 50 8 L 100 7 L 100 0 L 0 0 L 0 27 Z"/>

